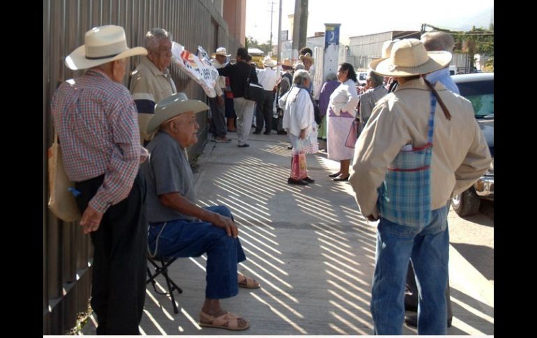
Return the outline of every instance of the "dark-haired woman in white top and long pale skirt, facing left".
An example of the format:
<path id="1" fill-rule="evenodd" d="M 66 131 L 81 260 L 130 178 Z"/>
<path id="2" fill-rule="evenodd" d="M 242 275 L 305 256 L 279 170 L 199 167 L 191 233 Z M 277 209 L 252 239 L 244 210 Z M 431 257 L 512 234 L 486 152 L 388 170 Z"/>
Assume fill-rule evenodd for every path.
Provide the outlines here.
<path id="1" fill-rule="evenodd" d="M 341 84 L 330 95 L 328 112 L 326 112 L 328 158 L 340 161 L 340 170 L 328 175 L 335 181 L 349 179 L 349 164 L 354 154 L 354 147 L 345 146 L 347 136 L 349 136 L 351 128 L 354 128 L 353 122 L 358 103 L 356 72 L 350 63 L 340 64 L 338 81 Z"/>

